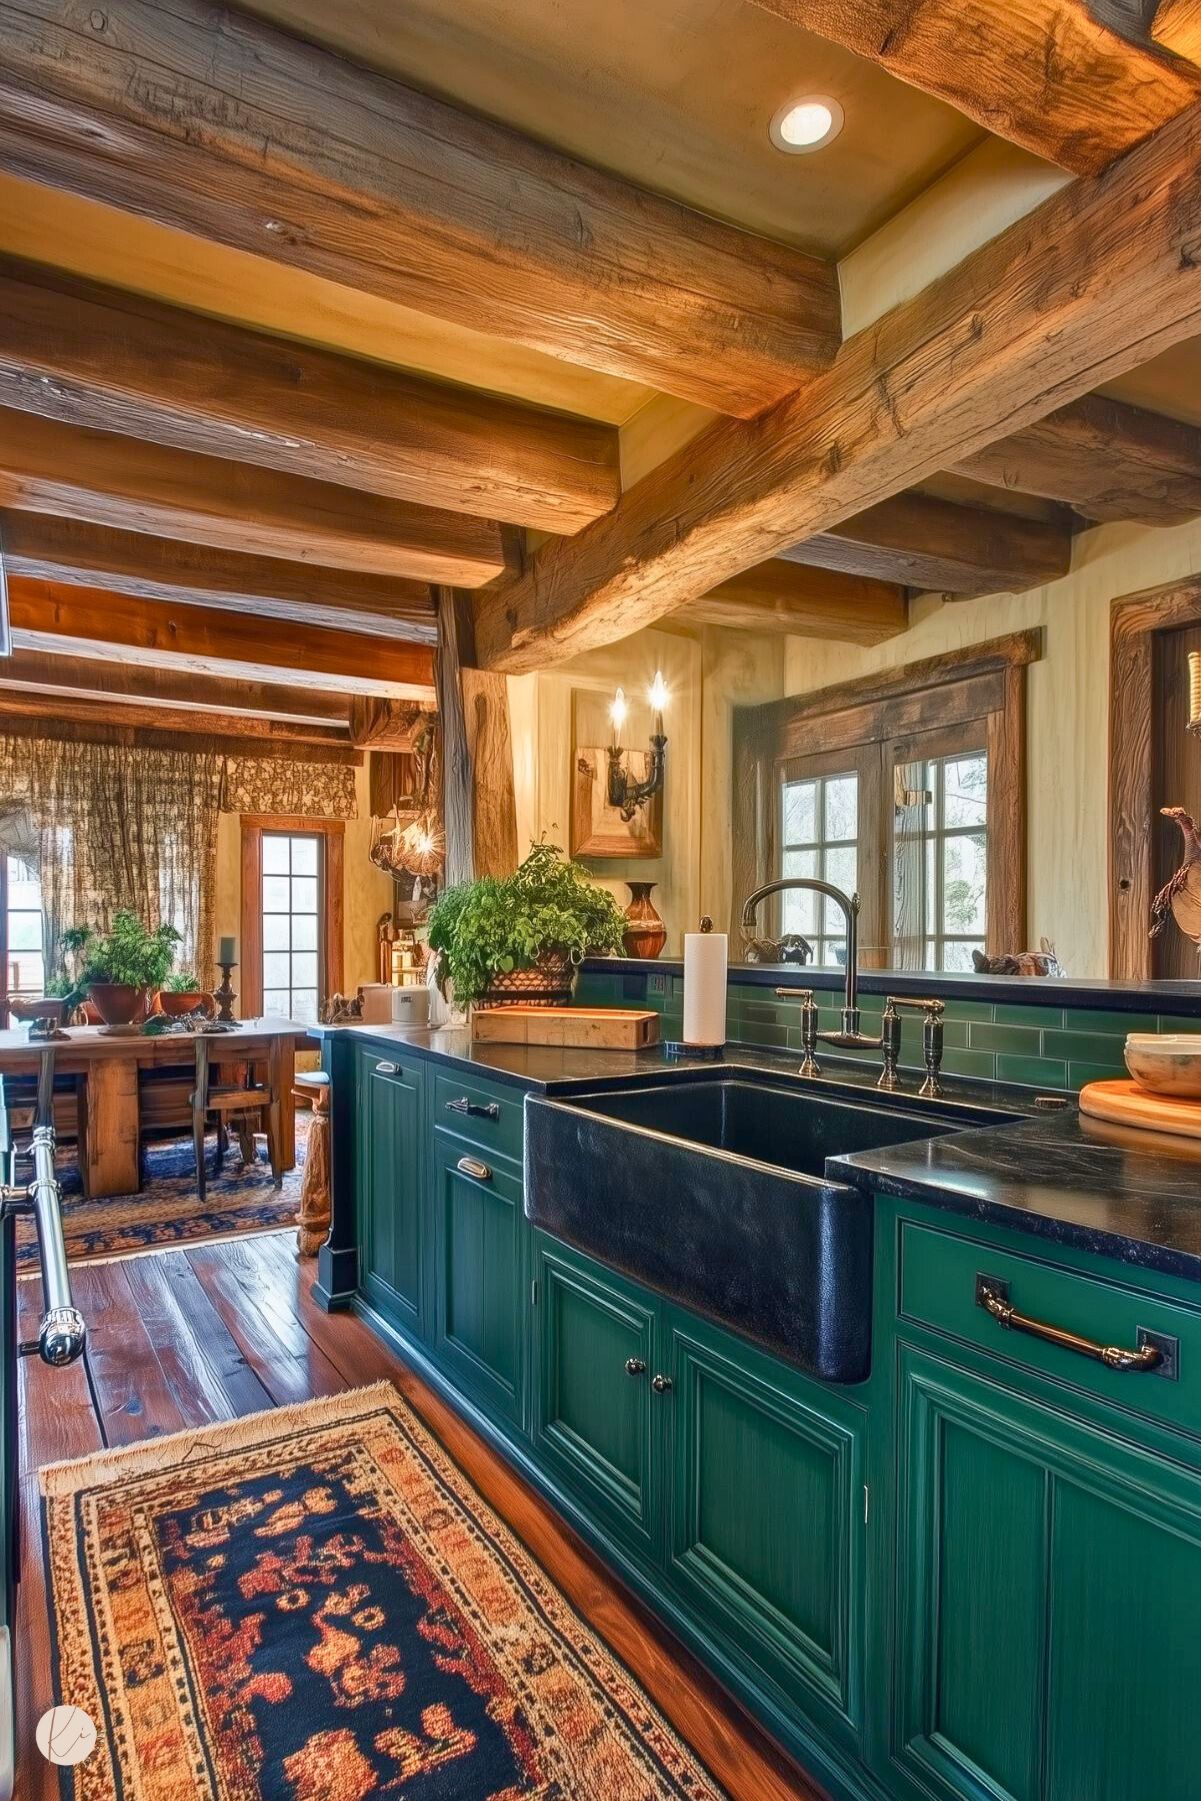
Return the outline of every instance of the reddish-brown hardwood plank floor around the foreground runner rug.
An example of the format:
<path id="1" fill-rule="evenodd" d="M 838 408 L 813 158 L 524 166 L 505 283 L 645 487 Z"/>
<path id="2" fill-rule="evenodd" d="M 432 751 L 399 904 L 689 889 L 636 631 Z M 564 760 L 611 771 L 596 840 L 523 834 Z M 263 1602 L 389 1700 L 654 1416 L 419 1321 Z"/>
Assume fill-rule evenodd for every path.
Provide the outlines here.
<path id="1" fill-rule="evenodd" d="M 18 1796 L 58 1801 L 34 1749 L 54 1698 L 36 1468 L 265 1407 L 393 1381 L 492 1507 L 529 1545 L 731 1801 L 819 1801 L 819 1790 L 695 1659 L 610 1576 L 583 1542 L 362 1320 L 324 1313 L 313 1264 L 292 1232 L 76 1266 L 88 1320 L 88 1371 L 22 1360 L 22 1587 L 18 1610 Z M 22 1336 L 40 1288 L 20 1282 Z M 90 1378 L 90 1381 L 88 1381 Z M 585 1801 L 585 1797 L 573 1797 Z"/>

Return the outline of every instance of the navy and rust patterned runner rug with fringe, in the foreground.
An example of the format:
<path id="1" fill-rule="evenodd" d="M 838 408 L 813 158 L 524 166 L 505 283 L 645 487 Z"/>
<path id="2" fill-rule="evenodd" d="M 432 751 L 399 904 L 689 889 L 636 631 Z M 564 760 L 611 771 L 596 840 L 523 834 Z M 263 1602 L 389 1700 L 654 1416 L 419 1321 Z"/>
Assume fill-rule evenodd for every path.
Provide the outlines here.
<path id="1" fill-rule="evenodd" d="M 391 1383 L 41 1489 L 76 1801 L 722 1801 Z"/>

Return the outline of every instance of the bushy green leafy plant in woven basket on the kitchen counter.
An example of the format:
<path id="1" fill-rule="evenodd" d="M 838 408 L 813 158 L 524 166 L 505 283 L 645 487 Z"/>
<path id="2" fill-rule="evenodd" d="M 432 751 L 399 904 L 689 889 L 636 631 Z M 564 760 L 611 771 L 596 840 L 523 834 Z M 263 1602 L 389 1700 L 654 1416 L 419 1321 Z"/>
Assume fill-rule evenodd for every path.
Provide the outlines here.
<path id="1" fill-rule="evenodd" d="M 623 929 L 609 890 L 591 882 L 558 845 L 540 843 L 513 875 L 448 888 L 430 911 L 429 938 L 438 953 L 438 985 L 445 991 L 452 982 L 456 1000 L 466 1007 L 493 976 L 531 969 L 547 953 L 578 962 L 619 951 Z"/>

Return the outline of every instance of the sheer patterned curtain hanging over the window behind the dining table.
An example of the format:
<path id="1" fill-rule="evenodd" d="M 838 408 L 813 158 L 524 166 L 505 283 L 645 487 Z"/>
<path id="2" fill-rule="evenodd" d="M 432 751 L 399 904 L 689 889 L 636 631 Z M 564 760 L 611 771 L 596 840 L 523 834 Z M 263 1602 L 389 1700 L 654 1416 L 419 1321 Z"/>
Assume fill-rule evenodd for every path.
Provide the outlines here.
<path id="1" fill-rule="evenodd" d="M 68 926 L 106 929 L 128 908 L 173 924 L 180 962 L 211 983 L 221 765 L 205 751 L 0 738 L 0 794 L 25 800 L 38 828 L 49 973 Z"/>

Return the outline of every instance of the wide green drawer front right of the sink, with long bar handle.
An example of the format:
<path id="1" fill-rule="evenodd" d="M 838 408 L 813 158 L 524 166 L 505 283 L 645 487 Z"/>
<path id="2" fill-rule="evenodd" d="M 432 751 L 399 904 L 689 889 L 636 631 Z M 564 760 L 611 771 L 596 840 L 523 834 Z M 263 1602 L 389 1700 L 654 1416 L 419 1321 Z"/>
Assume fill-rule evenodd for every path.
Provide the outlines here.
<path id="1" fill-rule="evenodd" d="M 980 1228 L 978 1228 L 980 1230 Z M 1201 1435 L 1201 1306 L 1167 1299 L 1113 1277 L 1010 1250 L 990 1237 L 898 1219 L 897 1315 L 978 1345 L 998 1358 L 1070 1381 L 1147 1419 Z M 1023 1317 L 1100 1345 L 1138 1349 L 1145 1333 L 1165 1340 L 1158 1371 L 1109 1369 L 1077 1349 L 1007 1329 L 978 1300 L 980 1279 Z M 1151 1281 L 1143 1277 L 1143 1281 Z"/>

